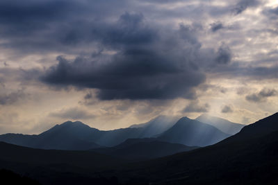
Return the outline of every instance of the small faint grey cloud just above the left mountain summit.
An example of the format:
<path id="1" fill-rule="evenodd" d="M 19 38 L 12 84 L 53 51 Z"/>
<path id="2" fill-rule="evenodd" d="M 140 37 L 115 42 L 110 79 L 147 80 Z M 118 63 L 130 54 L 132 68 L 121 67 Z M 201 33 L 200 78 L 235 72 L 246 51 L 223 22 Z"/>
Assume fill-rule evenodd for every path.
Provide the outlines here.
<path id="1" fill-rule="evenodd" d="M 81 109 L 79 107 L 61 109 L 58 112 L 51 112 L 49 116 L 73 120 L 95 118 L 94 114 L 91 114 L 90 112 L 87 112 L 85 109 Z"/>

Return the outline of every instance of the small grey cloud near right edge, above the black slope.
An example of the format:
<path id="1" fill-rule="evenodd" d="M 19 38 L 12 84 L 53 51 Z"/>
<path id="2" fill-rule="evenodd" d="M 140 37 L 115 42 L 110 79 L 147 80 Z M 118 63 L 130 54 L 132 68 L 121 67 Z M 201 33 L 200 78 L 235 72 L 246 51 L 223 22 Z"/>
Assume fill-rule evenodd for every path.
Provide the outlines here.
<path id="1" fill-rule="evenodd" d="M 254 93 L 245 96 L 245 99 L 250 101 L 250 102 L 260 102 L 265 100 L 268 97 L 271 96 L 276 96 L 277 95 L 277 90 L 276 89 L 262 89 L 259 91 L 259 93 Z"/>

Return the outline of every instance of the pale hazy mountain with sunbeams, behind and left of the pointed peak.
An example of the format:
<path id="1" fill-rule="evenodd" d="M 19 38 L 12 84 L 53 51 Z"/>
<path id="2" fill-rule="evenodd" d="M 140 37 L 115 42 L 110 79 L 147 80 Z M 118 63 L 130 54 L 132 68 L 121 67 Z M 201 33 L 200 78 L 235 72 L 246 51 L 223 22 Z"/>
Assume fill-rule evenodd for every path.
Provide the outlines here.
<path id="1" fill-rule="evenodd" d="M 130 127 L 143 128 L 141 137 L 154 137 L 168 130 L 178 120 L 179 118 L 174 116 L 157 116 L 147 123 L 131 125 Z"/>

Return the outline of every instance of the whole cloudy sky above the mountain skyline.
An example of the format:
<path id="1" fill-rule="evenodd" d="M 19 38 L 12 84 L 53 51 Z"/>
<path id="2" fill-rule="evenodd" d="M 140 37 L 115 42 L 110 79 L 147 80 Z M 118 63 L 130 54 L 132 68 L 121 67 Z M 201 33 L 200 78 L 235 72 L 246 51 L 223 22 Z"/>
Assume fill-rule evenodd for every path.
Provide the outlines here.
<path id="1" fill-rule="evenodd" d="M 276 0 L 1 0 L 0 134 L 278 111 Z"/>

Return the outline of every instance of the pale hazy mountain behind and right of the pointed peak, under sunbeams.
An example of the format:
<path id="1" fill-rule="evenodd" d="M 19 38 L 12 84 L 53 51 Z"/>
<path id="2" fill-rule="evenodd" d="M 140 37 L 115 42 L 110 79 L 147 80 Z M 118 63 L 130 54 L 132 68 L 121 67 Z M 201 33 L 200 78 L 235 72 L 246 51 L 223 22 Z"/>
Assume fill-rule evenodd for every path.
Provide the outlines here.
<path id="1" fill-rule="evenodd" d="M 202 114 L 201 116 L 197 117 L 196 120 L 203 123 L 208 123 L 209 125 L 213 125 L 213 127 L 217 127 L 222 132 L 231 135 L 238 133 L 245 126 L 239 123 L 233 123 L 226 119 L 218 118 L 208 114 Z"/>

